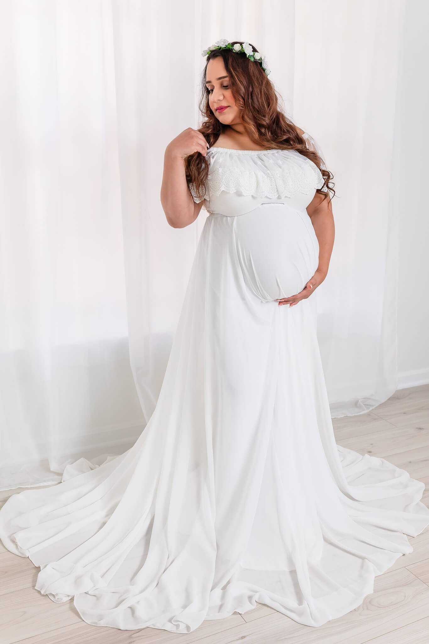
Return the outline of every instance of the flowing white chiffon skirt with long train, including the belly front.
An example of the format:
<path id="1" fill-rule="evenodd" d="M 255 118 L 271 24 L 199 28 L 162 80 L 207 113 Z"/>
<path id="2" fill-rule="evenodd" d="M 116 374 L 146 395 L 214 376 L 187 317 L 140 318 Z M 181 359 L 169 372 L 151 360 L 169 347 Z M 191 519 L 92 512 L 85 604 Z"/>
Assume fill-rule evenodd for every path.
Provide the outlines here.
<path id="1" fill-rule="evenodd" d="M 156 409 L 134 446 L 12 495 L 0 536 L 87 623 L 190 632 L 263 603 L 317 627 L 429 524 L 424 484 L 336 445 L 306 211 L 208 216 Z"/>

